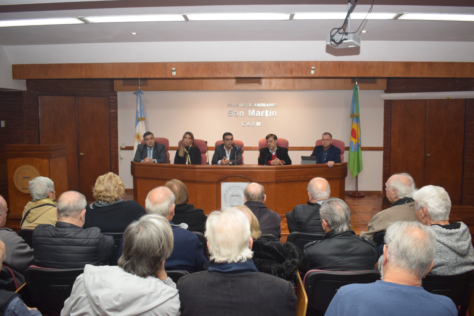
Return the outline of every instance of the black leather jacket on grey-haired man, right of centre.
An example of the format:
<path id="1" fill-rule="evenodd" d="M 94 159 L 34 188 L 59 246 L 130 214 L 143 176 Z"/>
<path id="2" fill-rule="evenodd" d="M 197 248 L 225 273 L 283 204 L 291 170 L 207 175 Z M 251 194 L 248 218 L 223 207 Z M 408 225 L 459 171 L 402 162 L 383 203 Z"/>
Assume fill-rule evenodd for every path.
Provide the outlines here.
<path id="1" fill-rule="evenodd" d="M 322 240 L 304 246 L 301 267 L 303 272 L 374 270 L 376 257 L 371 239 L 357 236 L 352 230 L 340 234 L 330 230 Z"/>

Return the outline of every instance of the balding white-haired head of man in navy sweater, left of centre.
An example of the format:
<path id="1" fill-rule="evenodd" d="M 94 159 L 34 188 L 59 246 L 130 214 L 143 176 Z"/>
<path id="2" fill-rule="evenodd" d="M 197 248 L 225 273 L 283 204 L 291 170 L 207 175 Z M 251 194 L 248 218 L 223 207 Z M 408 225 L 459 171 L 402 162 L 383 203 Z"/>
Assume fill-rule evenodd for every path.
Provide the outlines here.
<path id="1" fill-rule="evenodd" d="M 146 196 L 147 214 L 158 214 L 171 221 L 174 216 L 174 194 L 166 187 L 157 187 Z"/>

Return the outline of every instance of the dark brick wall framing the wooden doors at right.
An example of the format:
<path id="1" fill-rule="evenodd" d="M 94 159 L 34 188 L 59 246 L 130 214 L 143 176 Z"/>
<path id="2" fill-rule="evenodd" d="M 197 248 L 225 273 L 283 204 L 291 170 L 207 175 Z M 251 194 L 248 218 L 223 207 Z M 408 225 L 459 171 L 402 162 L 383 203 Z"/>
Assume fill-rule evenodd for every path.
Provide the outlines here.
<path id="1" fill-rule="evenodd" d="M 387 78 L 386 93 L 473 91 L 474 78 Z M 383 183 L 390 177 L 390 132 L 392 101 L 384 101 L 383 109 Z M 474 205 L 474 99 L 466 100 L 465 156 L 463 170 L 463 204 Z M 390 203 L 386 198 L 383 208 Z"/>

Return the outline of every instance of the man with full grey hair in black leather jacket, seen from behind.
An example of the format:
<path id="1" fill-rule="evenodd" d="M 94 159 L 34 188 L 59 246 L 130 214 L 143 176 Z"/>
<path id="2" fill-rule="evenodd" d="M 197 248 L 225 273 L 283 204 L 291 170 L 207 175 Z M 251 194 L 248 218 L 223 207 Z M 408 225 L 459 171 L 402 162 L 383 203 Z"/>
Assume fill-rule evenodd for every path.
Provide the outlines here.
<path id="1" fill-rule="evenodd" d="M 346 203 L 329 198 L 319 209 L 326 235 L 304 246 L 302 270 L 365 271 L 373 270 L 376 261 L 375 243 L 357 236 L 349 229 L 351 211 Z"/>

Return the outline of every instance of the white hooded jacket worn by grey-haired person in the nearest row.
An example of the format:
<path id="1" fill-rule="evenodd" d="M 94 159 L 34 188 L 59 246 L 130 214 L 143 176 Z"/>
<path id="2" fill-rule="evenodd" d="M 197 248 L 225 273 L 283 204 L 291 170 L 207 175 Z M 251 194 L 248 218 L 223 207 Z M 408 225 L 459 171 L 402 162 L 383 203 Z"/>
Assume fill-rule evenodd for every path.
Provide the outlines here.
<path id="1" fill-rule="evenodd" d="M 61 316 L 180 315 L 176 284 L 153 276 L 141 278 L 118 266 L 86 264 L 65 300 Z"/>

